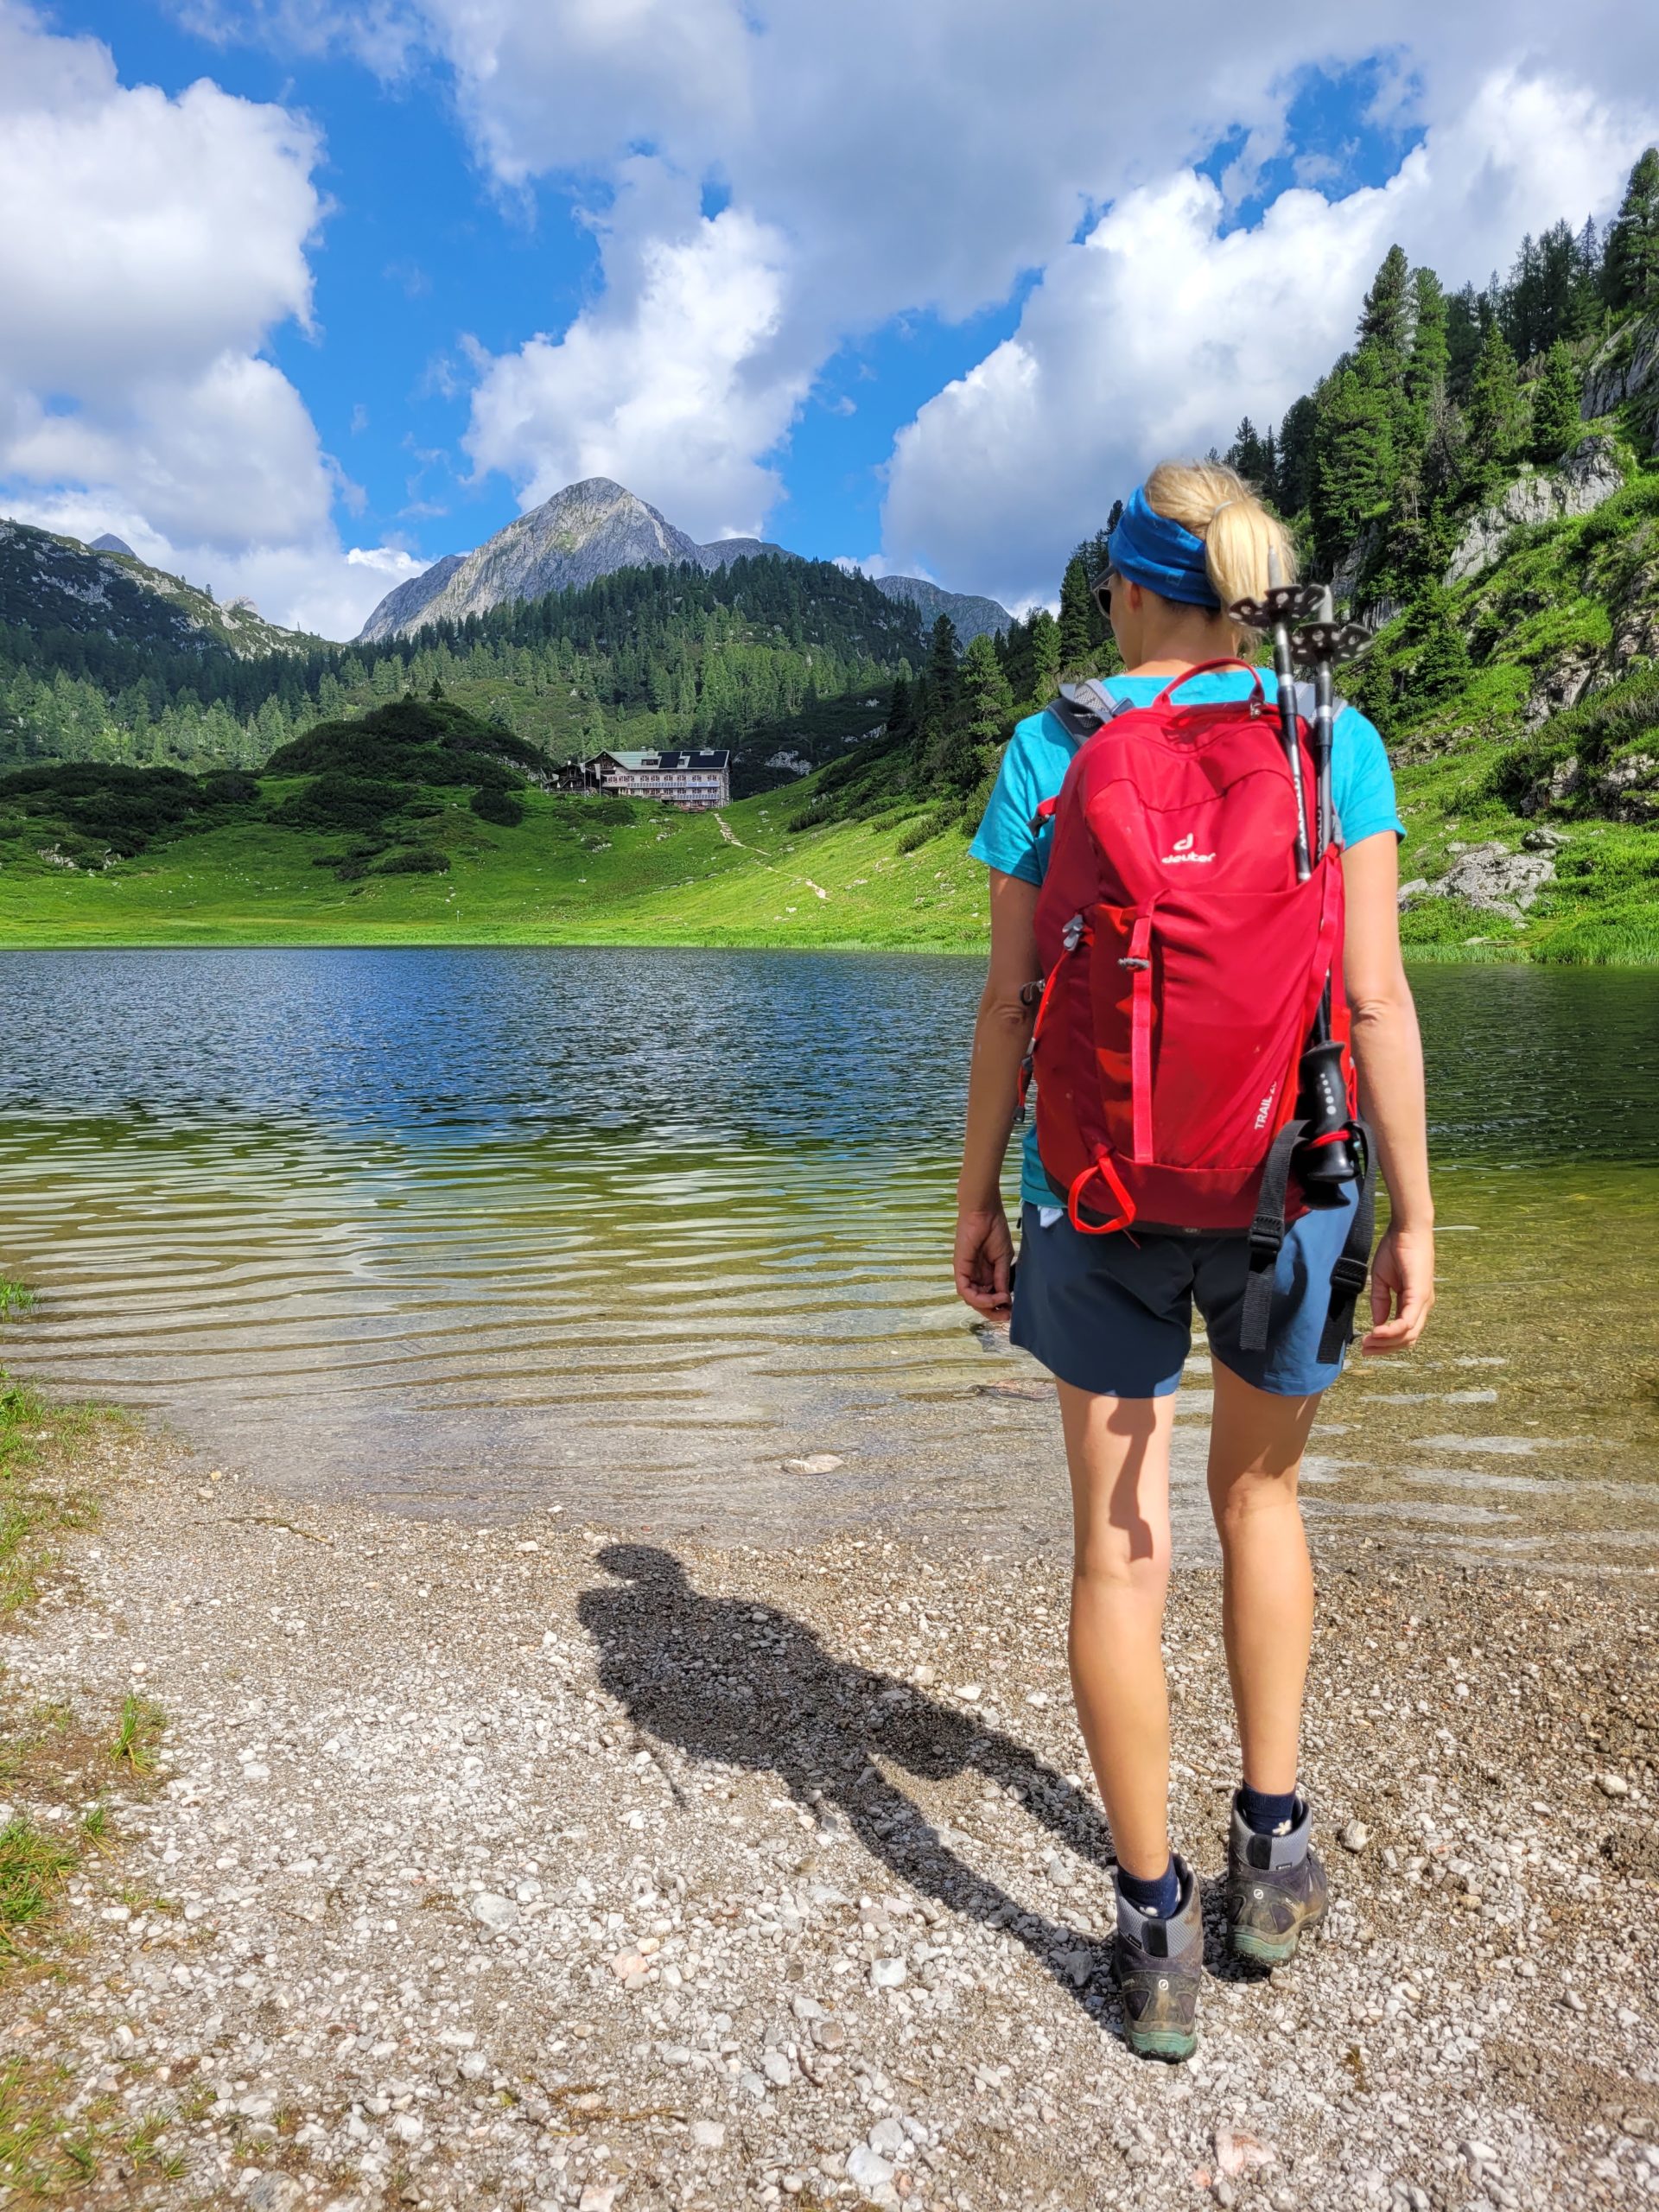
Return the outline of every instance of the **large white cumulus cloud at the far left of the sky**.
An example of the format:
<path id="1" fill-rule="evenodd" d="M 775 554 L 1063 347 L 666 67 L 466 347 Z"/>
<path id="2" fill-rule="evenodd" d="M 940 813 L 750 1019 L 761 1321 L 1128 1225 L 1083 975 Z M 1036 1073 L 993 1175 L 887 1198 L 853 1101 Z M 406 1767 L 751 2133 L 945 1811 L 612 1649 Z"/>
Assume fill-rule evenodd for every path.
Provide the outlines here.
<path id="1" fill-rule="evenodd" d="M 378 593 L 347 487 L 261 352 L 310 327 L 319 153 L 288 108 L 124 86 L 0 0 L 0 509 L 349 635 Z"/>

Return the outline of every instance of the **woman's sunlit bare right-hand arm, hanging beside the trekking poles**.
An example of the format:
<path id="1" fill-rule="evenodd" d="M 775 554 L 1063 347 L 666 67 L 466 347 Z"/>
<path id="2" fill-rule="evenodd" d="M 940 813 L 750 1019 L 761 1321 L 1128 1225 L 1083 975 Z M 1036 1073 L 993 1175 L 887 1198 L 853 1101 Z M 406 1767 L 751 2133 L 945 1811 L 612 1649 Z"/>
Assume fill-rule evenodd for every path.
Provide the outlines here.
<path id="1" fill-rule="evenodd" d="M 1391 830 L 1343 854 L 1343 894 L 1360 1113 L 1389 1188 L 1389 1228 L 1371 1263 L 1371 1329 L 1360 1352 L 1405 1352 L 1433 1305 L 1433 1197 L 1422 1037 L 1400 960 L 1400 847 Z"/>

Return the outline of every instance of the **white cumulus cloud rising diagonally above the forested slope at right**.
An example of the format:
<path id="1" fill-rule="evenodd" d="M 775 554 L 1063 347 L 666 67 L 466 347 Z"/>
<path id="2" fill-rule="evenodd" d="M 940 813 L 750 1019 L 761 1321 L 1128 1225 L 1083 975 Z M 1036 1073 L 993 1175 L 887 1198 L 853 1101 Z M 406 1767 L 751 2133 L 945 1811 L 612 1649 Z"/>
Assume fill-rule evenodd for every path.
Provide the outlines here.
<path id="1" fill-rule="evenodd" d="M 1646 128 L 1644 128 L 1646 124 Z M 894 447 L 885 551 L 1011 604 L 1166 453 L 1274 420 L 1352 341 L 1391 243 L 1451 285 L 1522 232 L 1606 208 L 1652 119 L 1582 86 L 1491 75 L 1378 188 L 1287 190 L 1223 232 L 1223 195 L 1179 170 L 1051 259 L 1020 327 L 931 398 Z"/>

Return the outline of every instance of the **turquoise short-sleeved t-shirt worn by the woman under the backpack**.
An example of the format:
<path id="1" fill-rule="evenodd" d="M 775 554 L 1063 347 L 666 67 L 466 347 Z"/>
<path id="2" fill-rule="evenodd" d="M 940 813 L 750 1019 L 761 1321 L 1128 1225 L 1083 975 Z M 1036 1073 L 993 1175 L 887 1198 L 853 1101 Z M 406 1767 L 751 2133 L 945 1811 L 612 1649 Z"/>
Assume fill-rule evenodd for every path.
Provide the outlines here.
<path id="1" fill-rule="evenodd" d="M 1279 686 L 1272 668 L 1261 668 L 1259 675 L 1263 692 L 1274 701 Z M 1115 699 L 1128 697 L 1135 706 L 1150 706 L 1168 681 L 1168 677 L 1108 677 L 1104 690 Z M 1248 695 L 1250 677 L 1245 670 L 1192 677 L 1181 688 L 1181 699 L 1190 699 L 1194 706 L 1245 699 Z M 1077 739 L 1046 708 L 1015 726 L 984 821 L 969 845 L 975 860 L 984 860 L 987 867 L 995 867 L 1004 876 L 1020 876 L 1022 883 L 1042 883 L 1048 867 L 1051 830 L 1046 823 L 1042 830 L 1033 830 L 1031 818 L 1044 799 L 1060 792 L 1075 752 Z M 1405 836 L 1394 805 L 1394 772 L 1383 739 L 1374 723 L 1352 706 L 1343 708 L 1332 732 L 1332 805 L 1349 849 L 1369 836 L 1383 836 L 1385 830 Z M 1020 1199 L 1026 1206 L 1055 1203 L 1053 1186 L 1037 1159 L 1035 1117 L 1026 1119 Z"/>

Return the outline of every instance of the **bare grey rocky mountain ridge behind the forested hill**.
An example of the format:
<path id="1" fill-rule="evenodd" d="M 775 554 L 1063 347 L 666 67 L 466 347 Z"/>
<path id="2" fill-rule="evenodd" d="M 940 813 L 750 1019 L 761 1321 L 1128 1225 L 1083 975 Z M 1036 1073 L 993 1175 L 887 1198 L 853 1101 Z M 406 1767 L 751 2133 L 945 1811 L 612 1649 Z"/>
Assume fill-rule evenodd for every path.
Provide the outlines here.
<path id="1" fill-rule="evenodd" d="M 617 568 L 657 568 L 681 562 L 714 571 L 761 555 L 803 560 L 763 538 L 717 538 L 699 544 L 686 531 L 608 476 L 566 484 L 531 507 L 471 553 L 445 553 L 422 575 L 398 584 L 374 608 L 358 637 L 374 644 L 411 635 L 431 622 L 465 622 L 507 599 L 540 599 L 549 591 L 597 584 Z M 922 577 L 883 577 L 889 599 L 909 599 L 931 622 L 949 613 L 967 644 L 980 630 L 1006 630 L 1013 619 L 995 599 L 940 591 Z"/>

